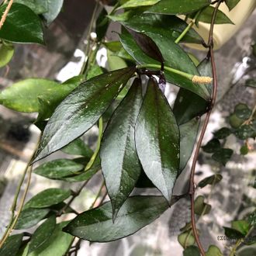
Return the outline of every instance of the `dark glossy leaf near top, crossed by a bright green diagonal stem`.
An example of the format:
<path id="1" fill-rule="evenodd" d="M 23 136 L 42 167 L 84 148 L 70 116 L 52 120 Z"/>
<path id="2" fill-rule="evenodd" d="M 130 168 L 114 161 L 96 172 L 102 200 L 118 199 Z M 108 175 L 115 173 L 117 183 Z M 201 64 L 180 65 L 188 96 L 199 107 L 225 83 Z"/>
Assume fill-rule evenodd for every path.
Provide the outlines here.
<path id="1" fill-rule="evenodd" d="M 176 16 L 163 16 L 154 13 L 143 13 L 138 16 L 133 16 L 132 19 L 123 21 L 122 24 L 134 31 L 144 33 L 145 31 L 157 31 L 161 35 L 171 36 L 176 40 L 188 24 Z M 189 29 L 189 32 L 182 38 L 181 42 L 201 43 L 202 37 L 195 32 L 194 29 Z"/>

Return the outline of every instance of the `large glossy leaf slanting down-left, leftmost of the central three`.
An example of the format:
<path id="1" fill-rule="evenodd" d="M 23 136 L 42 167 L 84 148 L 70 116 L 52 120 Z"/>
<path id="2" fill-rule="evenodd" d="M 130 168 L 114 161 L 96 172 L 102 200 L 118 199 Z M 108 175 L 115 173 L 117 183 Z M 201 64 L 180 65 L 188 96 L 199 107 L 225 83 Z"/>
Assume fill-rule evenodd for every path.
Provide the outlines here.
<path id="1" fill-rule="evenodd" d="M 50 117 L 34 161 L 47 157 L 89 130 L 108 109 L 134 71 L 134 67 L 127 67 L 101 74 L 75 88 Z"/>

